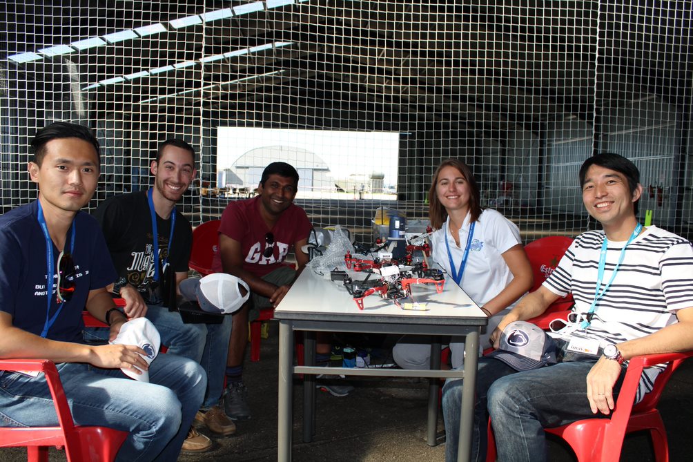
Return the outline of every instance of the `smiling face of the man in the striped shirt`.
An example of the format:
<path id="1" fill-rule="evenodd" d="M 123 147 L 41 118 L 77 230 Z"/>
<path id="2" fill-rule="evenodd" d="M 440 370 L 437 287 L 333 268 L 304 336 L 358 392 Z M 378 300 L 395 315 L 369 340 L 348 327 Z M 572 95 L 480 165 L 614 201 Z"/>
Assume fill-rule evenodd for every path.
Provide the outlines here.
<path id="1" fill-rule="evenodd" d="M 632 230 L 631 222 L 635 222 L 633 203 L 640 194 L 641 185 L 631 194 L 623 173 L 596 164 L 590 166 L 582 185 L 582 202 L 587 212 L 607 231 L 621 226 Z"/>

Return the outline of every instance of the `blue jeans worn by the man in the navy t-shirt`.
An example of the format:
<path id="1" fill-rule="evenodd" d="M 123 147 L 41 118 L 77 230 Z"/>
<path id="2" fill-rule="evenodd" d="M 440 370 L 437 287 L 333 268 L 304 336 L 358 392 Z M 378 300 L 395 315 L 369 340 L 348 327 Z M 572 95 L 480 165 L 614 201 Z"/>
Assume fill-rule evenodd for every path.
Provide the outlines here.
<path id="1" fill-rule="evenodd" d="M 76 425 L 129 431 L 118 461 L 175 461 L 200 408 L 207 377 L 198 363 L 160 354 L 149 368 L 150 383 L 120 369 L 58 363 L 60 381 Z M 43 375 L 0 375 L 0 425 L 57 426 Z"/>

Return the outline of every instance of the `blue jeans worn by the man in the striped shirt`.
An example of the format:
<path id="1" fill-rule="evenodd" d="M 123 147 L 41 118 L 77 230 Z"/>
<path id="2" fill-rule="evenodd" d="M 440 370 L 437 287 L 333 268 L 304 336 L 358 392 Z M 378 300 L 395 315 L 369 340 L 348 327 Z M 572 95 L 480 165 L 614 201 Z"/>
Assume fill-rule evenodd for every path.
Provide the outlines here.
<path id="1" fill-rule="evenodd" d="M 517 372 L 489 357 L 479 359 L 472 433 L 472 461 L 486 460 L 486 429 L 493 422 L 499 461 L 547 460 L 544 427 L 560 427 L 593 414 L 587 400 L 586 377 L 597 358 L 566 355 L 562 363 Z M 624 369 L 625 370 L 625 369 Z M 614 386 L 618 395 L 624 373 Z M 443 387 L 446 461 L 457 461 L 462 380 Z"/>

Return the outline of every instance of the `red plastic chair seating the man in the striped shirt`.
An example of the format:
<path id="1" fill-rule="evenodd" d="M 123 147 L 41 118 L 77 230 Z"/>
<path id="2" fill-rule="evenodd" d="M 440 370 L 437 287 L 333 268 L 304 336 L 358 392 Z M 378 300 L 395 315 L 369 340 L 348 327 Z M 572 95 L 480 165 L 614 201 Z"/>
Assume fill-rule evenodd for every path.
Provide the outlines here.
<path id="1" fill-rule="evenodd" d="M 674 370 L 681 366 L 684 359 L 692 356 L 693 352 L 647 354 L 634 357 L 629 363 L 611 418 L 578 420 L 563 427 L 544 430 L 563 438 L 575 452 L 579 462 L 618 462 L 624 436 L 633 431 L 649 430 L 656 461 L 669 461 L 667 431 L 656 407 Z M 642 368 L 667 362 L 667 368 L 658 375 L 652 391 L 647 393 L 638 404 L 633 404 Z M 495 461 L 495 456 L 495 439 L 489 421 L 489 447 L 486 462 Z"/>

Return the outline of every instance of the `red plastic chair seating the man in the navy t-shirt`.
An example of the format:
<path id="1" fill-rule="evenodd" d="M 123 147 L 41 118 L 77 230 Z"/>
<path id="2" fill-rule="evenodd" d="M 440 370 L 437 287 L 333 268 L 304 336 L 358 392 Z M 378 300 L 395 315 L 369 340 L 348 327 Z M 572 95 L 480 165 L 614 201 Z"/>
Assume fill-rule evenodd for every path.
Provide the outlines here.
<path id="1" fill-rule="evenodd" d="M 0 427 L 0 447 L 24 447 L 30 462 L 48 462 L 50 446 L 64 447 L 69 462 L 113 461 L 127 431 L 75 425 L 53 361 L 0 359 L 0 370 L 38 370 L 46 376 L 58 427 Z"/>

